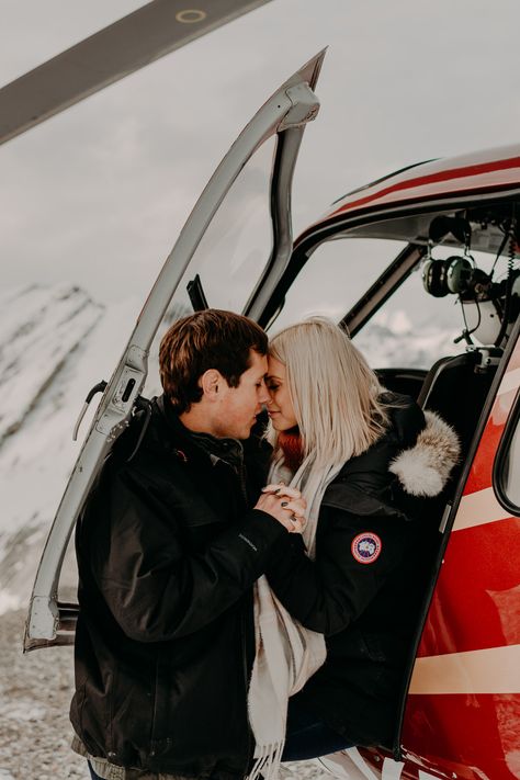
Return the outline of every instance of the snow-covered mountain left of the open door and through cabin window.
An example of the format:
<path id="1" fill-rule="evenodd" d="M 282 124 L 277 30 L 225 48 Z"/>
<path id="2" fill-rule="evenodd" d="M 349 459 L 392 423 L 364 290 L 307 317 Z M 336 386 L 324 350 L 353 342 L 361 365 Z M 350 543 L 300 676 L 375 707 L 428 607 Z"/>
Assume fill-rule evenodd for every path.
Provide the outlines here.
<path id="1" fill-rule="evenodd" d="M 88 391 L 110 378 L 140 304 L 103 307 L 72 285 L 0 296 L 0 612 L 29 599 L 79 453 L 80 442 L 71 440 L 79 410 Z M 403 318 L 374 323 L 357 343 L 374 366 L 425 366 L 450 351 L 446 334 L 414 337 Z M 156 352 L 147 395 L 159 388 Z M 88 426 L 84 420 L 80 440 Z M 74 581 L 74 570 L 67 577 Z"/>

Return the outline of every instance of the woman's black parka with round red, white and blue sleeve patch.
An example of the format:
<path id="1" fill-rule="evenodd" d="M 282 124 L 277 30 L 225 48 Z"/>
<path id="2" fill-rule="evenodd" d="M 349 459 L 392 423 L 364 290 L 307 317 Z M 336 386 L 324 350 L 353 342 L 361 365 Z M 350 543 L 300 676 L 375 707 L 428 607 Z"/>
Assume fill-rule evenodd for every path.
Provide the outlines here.
<path id="1" fill-rule="evenodd" d="M 448 452 L 453 465 L 457 443 L 430 412 L 426 426 L 411 399 L 387 399 L 387 432 L 346 463 L 325 491 L 315 561 L 292 534 L 268 578 L 289 612 L 326 636 L 325 665 L 295 698 L 346 743 L 391 747 L 405 664 L 439 542 L 439 505 L 434 489 L 428 499 L 410 495 L 389 467 L 412 448 L 407 456 L 414 467 L 422 457 L 433 470 L 427 474 L 425 468 L 422 487 L 429 489 L 427 477 L 439 476 L 438 456 Z M 441 471 L 439 483 L 450 471 L 448 456 Z"/>

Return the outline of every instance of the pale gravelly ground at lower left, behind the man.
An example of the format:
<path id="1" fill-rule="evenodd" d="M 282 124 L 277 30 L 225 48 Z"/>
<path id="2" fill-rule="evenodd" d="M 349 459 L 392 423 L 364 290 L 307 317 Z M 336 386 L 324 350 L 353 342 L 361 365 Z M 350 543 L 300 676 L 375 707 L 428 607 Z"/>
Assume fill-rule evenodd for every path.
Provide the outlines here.
<path id="1" fill-rule="evenodd" d="M 0 615 L 0 780 L 88 780 L 70 749 L 72 647 L 23 655 L 25 610 Z M 330 780 L 312 761 L 285 764 L 281 780 Z"/>

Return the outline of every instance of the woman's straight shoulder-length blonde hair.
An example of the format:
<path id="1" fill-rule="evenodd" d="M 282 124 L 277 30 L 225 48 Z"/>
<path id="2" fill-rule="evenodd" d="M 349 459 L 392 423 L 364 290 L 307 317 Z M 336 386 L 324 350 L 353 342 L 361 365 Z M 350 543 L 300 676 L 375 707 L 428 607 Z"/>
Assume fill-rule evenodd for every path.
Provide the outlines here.
<path id="1" fill-rule="evenodd" d="M 339 326 L 313 317 L 280 331 L 269 353 L 285 365 L 304 457 L 341 465 L 384 432 L 387 411 L 375 373 Z M 269 433 L 276 445 L 276 432 Z"/>

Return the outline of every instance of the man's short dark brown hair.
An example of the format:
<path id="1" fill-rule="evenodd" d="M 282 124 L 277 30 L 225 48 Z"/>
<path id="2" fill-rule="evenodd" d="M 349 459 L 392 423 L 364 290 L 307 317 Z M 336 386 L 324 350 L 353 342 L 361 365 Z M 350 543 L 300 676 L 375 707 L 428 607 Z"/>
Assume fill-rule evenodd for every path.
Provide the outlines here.
<path id="1" fill-rule="evenodd" d="M 202 398 L 199 378 L 216 369 L 230 387 L 250 366 L 250 350 L 268 353 L 268 337 L 257 323 L 233 312 L 208 308 L 173 323 L 159 348 L 165 394 L 176 411 L 188 411 Z"/>

